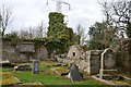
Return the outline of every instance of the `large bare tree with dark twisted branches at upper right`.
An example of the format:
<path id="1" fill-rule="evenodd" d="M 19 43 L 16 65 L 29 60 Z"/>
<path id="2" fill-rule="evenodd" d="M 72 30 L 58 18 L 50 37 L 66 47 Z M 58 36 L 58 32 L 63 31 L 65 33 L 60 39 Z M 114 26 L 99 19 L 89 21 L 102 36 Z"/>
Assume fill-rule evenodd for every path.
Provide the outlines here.
<path id="1" fill-rule="evenodd" d="M 104 1 L 99 2 L 103 8 L 103 13 L 106 16 L 106 21 L 111 26 L 116 27 L 118 36 L 123 37 L 127 25 L 129 24 L 129 2 L 126 0 L 118 1 Z"/>

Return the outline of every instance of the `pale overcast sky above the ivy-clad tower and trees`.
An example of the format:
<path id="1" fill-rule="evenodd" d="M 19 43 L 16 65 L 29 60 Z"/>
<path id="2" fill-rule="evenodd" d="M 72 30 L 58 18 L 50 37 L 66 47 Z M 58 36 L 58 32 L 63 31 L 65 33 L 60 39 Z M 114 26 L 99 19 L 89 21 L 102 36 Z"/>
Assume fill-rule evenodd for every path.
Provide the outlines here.
<path id="1" fill-rule="evenodd" d="M 68 26 L 75 30 L 78 24 L 86 28 L 96 21 L 103 21 L 100 5 L 97 0 L 63 0 L 71 4 L 71 10 L 67 5 L 62 5 L 62 13 L 68 15 Z M 48 26 L 49 12 L 56 11 L 56 1 L 49 0 L 0 0 L 2 4 L 10 7 L 13 11 L 13 22 L 7 32 L 20 30 L 28 26 L 37 26 L 41 21 Z"/>

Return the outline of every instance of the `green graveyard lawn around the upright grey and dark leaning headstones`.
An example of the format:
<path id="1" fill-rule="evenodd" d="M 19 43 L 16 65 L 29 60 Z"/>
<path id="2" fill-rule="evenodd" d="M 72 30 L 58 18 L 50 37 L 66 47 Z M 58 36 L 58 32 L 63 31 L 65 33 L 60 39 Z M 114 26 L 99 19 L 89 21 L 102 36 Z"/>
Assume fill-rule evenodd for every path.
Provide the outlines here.
<path id="1" fill-rule="evenodd" d="M 2 73 L 11 72 L 13 76 L 22 83 L 41 83 L 44 85 L 102 85 L 94 79 L 72 83 L 63 76 L 55 74 L 50 69 L 53 67 L 52 62 L 40 62 L 40 73 L 32 74 L 32 71 L 14 72 L 10 69 L 2 69 Z M 1 71 L 1 69 L 0 69 Z"/>

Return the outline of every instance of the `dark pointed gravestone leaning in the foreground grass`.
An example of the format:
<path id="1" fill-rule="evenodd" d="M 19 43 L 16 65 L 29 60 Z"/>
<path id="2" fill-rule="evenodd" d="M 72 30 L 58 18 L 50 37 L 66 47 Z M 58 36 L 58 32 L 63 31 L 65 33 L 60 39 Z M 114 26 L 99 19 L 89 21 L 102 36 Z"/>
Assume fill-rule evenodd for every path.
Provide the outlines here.
<path id="1" fill-rule="evenodd" d="M 72 82 L 81 82 L 83 79 L 81 73 L 79 72 L 79 67 L 72 63 L 69 67 L 69 74 L 68 77 L 72 80 Z"/>

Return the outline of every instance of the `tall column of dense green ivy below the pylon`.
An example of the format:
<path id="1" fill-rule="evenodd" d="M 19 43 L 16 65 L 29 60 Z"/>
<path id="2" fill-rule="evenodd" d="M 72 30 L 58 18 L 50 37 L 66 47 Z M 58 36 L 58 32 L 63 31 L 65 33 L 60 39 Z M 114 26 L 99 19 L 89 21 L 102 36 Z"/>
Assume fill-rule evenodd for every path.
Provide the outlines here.
<path id="1" fill-rule="evenodd" d="M 49 26 L 47 32 L 46 46 L 49 53 L 64 53 L 71 45 L 73 30 L 67 27 L 64 15 L 61 13 L 52 12 L 49 14 Z"/>

